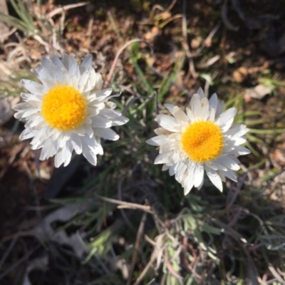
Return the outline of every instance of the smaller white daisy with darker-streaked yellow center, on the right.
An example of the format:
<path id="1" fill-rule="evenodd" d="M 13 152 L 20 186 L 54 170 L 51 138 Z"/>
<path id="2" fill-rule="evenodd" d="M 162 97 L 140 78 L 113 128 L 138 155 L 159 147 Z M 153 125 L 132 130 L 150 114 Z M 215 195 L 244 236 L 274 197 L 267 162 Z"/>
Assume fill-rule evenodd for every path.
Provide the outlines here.
<path id="1" fill-rule="evenodd" d="M 201 88 L 192 96 L 186 114 L 175 105 L 165 107 L 172 116 L 157 115 L 155 120 L 162 128 L 157 128 L 157 136 L 147 143 L 158 146 L 155 164 L 162 163 L 162 170 L 175 175 L 184 194 L 192 187 L 202 187 L 204 171 L 220 191 L 225 177 L 237 181 L 233 170 L 239 170 L 240 162 L 234 155 L 250 153 L 240 146 L 249 129 L 232 125 L 237 108 L 223 112 L 224 102 L 218 103 L 217 94 L 208 100 Z"/>

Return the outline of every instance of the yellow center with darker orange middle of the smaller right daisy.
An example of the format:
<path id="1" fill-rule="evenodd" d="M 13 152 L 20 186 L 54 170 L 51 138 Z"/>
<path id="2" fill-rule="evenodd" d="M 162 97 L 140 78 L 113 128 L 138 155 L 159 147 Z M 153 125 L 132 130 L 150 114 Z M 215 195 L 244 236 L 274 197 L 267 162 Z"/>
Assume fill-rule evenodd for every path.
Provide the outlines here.
<path id="1" fill-rule="evenodd" d="M 222 130 L 211 121 L 197 121 L 182 133 L 181 145 L 194 162 L 214 160 L 224 147 Z"/>

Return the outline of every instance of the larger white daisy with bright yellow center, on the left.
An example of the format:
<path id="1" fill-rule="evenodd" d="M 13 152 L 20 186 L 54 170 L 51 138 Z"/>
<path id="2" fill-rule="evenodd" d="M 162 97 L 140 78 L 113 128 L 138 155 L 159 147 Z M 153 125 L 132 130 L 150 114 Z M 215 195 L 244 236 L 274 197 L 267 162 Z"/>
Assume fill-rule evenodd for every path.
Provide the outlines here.
<path id="1" fill-rule="evenodd" d="M 29 93 L 21 93 L 24 101 L 14 107 L 15 118 L 26 122 L 21 140 L 33 138 L 33 150 L 41 148 L 40 160 L 55 156 L 55 165 L 68 165 L 73 150 L 96 165 L 97 155 L 103 155 L 100 139 L 118 140 L 110 129 L 128 119 L 108 100 L 112 89 L 101 90 L 102 77 L 92 67 L 92 56 L 80 66 L 75 58 L 63 53 L 60 60 L 42 59 L 32 72 L 41 83 L 23 80 Z"/>

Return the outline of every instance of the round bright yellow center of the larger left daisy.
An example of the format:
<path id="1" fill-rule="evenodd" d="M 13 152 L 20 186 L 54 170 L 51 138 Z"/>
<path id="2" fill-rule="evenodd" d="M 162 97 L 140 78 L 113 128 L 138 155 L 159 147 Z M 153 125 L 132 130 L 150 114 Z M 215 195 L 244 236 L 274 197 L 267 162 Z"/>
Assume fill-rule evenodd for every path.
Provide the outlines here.
<path id="1" fill-rule="evenodd" d="M 43 95 L 41 115 L 52 128 L 74 130 L 84 122 L 86 113 L 86 98 L 72 86 L 55 86 Z"/>

